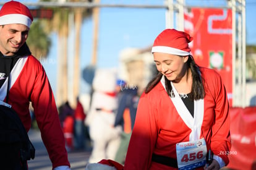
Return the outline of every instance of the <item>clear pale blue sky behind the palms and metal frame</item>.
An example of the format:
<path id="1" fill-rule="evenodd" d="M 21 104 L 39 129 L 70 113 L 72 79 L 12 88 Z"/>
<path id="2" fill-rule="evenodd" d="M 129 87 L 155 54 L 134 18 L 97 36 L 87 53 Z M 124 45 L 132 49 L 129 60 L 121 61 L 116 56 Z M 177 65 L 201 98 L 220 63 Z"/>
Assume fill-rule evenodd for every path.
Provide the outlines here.
<path id="1" fill-rule="evenodd" d="M 101 0 L 101 3 L 137 3 L 137 4 L 163 4 L 160 0 Z M 188 2 L 188 1 L 187 1 Z M 206 6 L 202 0 L 189 0 L 191 4 Z M 254 28 L 256 2 L 247 0 L 246 6 L 246 31 L 247 44 L 256 45 L 256 29 Z M 146 48 L 151 46 L 156 36 L 165 28 L 165 9 L 129 9 L 103 7 L 100 9 L 100 28 L 98 40 L 98 67 L 118 67 L 119 53 L 125 48 Z M 92 57 L 92 19 L 87 19 L 82 25 L 81 33 L 81 71 L 88 66 Z M 57 64 L 57 42 L 56 34 L 51 35 L 53 46 L 48 59 L 42 61 L 49 80 L 56 89 L 56 64 Z M 70 43 L 72 46 L 72 42 Z M 70 47 L 70 51 L 72 48 Z M 72 57 L 70 57 L 72 59 Z M 70 61 L 72 67 L 72 60 Z M 53 67 L 54 65 L 54 67 Z M 81 89 L 83 92 L 84 82 Z"/>

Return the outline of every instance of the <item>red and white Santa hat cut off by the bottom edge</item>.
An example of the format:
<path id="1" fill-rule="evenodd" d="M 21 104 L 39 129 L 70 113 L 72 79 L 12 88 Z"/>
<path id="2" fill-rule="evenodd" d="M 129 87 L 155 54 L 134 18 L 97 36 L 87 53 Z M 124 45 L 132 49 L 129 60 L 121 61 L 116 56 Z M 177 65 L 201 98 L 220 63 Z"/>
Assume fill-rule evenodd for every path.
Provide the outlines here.
<path id="1" fill-rule="evenodd" d="M 98 163 L 87 164 L 85 170 L 123 170 L 124 166 L 111 159 L 102 159 Z"/>

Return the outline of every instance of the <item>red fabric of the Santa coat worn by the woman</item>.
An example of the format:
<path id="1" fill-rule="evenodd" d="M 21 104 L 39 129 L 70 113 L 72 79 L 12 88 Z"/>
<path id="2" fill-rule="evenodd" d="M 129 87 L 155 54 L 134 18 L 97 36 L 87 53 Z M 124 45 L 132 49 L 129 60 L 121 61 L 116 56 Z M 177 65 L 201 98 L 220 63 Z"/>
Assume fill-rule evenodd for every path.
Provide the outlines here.
<path id="1" fill-rule="evenodd" d="M 231 148 L 226 90 L 215 70 L 201 69 L 201 72 L 206 95 L 203 99 L 200 138 L 205 138 L 207 150 L 211 148 L 214 155 L 220 156 L 228 164 L 228 155 L 220 155 L 221 151 Z M 197 114 L 196 111 L 194 114 Z M 182 114 L 178 113 L 161 82 L 150 93 L 143 93 L 124 169 L 175 169 L 151 161 L 151 156 L 155 153 L 177 158 L 176 143 L 190 140 L 192 130 L 186 122 L 191 119 L 189 116 L 182 119 Z"/>

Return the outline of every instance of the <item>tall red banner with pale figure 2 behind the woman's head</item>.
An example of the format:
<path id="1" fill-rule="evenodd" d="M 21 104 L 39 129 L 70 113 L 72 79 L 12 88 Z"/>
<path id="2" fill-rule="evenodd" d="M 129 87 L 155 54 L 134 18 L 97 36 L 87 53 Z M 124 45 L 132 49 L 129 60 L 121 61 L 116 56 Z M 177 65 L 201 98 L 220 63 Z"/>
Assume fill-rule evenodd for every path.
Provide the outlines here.
<path id="1" fill-rule="evenodd" d="M 220 73 L 232 106 L 231 9 L 192 8 L 184 19 L 184 30 L 194 38 L 190 47 L 195 62 Z"/>

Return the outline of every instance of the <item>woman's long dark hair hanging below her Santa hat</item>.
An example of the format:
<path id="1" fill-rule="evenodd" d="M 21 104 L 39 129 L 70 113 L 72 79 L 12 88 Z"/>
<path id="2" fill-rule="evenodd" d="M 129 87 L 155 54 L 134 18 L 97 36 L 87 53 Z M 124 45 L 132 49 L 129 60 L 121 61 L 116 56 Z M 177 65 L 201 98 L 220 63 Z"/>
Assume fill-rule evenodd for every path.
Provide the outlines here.
<path id="1" fill-rule="evenodd" d="M 200 67 L 195 63 L 193 56 L 189 56 L 189 59 L 187 60 L 187 64 L 189 65 L 189 68 L 192 73 L 192 99 L 193 100 L 199 100 L 203 99 L 205 97 L 205 89 L 203 88 L 203 79 L 200 72 Z M 158 72 L 158 74 L 148 83 L 147 87 L 145 88 L 145 93 L 150 92 L 158 82 L 160 82 L 161 77 L 163 74 L 161 72 Z M 168 80 L 166 77 L 165 79 L 165 87 L 166 91 L 169 96 L 174 96 L 172 93 L 173 88 L 171 87 L 171 81 Z"/>

